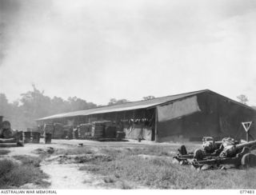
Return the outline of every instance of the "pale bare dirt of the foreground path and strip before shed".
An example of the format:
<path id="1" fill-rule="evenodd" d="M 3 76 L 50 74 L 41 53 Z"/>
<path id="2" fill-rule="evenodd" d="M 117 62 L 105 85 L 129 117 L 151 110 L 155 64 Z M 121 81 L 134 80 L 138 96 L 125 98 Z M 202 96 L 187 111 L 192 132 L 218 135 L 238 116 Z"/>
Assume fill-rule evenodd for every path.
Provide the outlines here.
<path id="1" fill-rule="evenodd" d="M 177 146 L 181 143 L 173 143 Z M 52 140 L 51 144 L 26 144 L 24 147 L 8 148 L 10 153 L 6 157 L 14 157 L 16 155 L 28 155 L 33 157 L 39 157 L 40 151 L 46 151 L 51 148 L 54 151 L 62 149 L 66 151 L 68 149 L 76 149 L 79 146 L 83 148 L 90 147 L 94 149 L 98 148 L 126 148 L 126 147 L 140 147 L 140 146 L 170 146 L 170 143 L 154 143 L 152 141 L 86 141 L 86 140 Z M 39 152 L 38 152 L 39 151 Z M 82 165 L 78 163 L 64 163 L 60 164 L 58 161 L 51 160 L 50 158 L 44 159 L 40 164 L 40 169 L 49 175 L 50 189 L 116 189 L 116 185 L 106 184 L 104 177 L 99 177 L 87 171 L 79 170 Z M 25 188 L 37 188 L 31 184 L 24 185 Z M 134 186 L 134 188 L 143 188 L 142 186 Z"/>

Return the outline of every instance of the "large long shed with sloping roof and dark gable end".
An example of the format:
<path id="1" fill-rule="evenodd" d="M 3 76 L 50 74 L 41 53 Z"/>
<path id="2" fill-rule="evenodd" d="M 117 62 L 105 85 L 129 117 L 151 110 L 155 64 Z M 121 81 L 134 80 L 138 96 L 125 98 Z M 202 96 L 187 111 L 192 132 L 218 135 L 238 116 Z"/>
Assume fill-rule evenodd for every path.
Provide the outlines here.
<path id="1" fill-rule="evenodd" d="M 242 121 L 255 121 L 256 111 L 211 90 L 200 90 L 146 101 L 133 101 L 39 118 L 38 124 L 79 125 L 113 121 L 127 138 L 151 141 L 199 140 L 203 136 L 246 139 Z M 256 138 L 255 125 L 250 135 Z"/>

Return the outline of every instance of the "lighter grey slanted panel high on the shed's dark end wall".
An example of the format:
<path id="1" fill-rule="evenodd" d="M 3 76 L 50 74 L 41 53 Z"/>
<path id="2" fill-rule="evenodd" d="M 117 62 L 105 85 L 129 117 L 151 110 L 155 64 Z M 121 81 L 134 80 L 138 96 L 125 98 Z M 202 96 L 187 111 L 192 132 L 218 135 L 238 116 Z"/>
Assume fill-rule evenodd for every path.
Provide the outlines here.
<path id="1" fill-rule="evenodd" d="M 201 111 L 196 96 L 186 98 L 182 101 L 175 101 L 170 105 L 158 105 L 157 108 L 158 121 L 169 121 L 170 119 Z"/>

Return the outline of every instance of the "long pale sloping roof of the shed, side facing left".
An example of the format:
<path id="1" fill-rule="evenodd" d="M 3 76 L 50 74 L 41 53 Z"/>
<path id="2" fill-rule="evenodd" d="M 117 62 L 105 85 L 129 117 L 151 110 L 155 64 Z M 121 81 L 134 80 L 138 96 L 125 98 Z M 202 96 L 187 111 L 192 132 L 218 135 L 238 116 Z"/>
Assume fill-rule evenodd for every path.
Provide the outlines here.
<path id="1" fill-rule="evenodd" d="M 85 109 L 85 110 L 79 110 L 79 111 L 70 112 L 70 113 L 58 113 L 49 117 L 39 118 L 37 121 L 61 118 L 61 117 L 86 116 L 86 115 L 95 114 L 95 113 L 112 113 L 112 112 L 120 112 L 120 111 L 133 110 L 133 109 L 146 109 L 146 108 L 153 107 L 155 105 L 161 105 L 168 101 L 174 101 L 180 98 L 189 97 L 191 95 L 201 94 L 206 91 L 210 91 L 210 90 L 200 90 L 200 91 L 194 91 L 186 94 L 171 95 L 171 96 L 166 96 L 162 98 L 154 98 L 150 100 L 130 101 L 124 104 L 106 105 L 106 106 L 98 107 L 95 109 Z"/>

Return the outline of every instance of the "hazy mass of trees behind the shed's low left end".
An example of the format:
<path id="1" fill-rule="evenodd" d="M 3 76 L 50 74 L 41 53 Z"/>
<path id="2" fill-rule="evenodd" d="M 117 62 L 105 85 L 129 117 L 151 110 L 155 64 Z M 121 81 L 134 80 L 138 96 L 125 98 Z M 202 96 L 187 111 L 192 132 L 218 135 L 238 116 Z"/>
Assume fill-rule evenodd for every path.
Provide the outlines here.
<path id="1" fill-rule="evenodd" d="M 11 122 L 14 129 L 24 130 L 35 125 L 35 119 L 55 113 L 65 113 L 74 110 L 91 109 L 97 105 L 81 98 L 72 97 L 50 98 L 43 91 L 33 86 L 33 90 L 21 94 L 18 101 L 9 102 L 5 94 L 0 94 L 0 116 Z"/>

